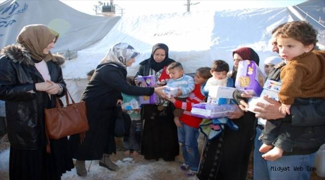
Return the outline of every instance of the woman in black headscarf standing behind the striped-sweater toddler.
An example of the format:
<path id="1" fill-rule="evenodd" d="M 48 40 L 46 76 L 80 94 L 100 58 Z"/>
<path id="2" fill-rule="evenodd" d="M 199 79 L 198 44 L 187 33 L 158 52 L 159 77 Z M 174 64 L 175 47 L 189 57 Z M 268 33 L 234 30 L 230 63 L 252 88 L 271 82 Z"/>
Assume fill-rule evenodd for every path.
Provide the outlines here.
<path id="1" fill-rule="evenodd" d="M 175 62 L 168 58 L 168 47 L 158 43 L 152 48 L 151 57 L 140 62 L 137 75 L 156 75 L 156 80 L 163 82 L 166 75 L 164 67 Z M 177 128 L 174 123 L 173 107 L 160 103 L 145 104 L 141 110 L 141 120 L 144 120 L 141 154 L 145 159 L 162 158 L 173 161 L 179 154 Z"/>

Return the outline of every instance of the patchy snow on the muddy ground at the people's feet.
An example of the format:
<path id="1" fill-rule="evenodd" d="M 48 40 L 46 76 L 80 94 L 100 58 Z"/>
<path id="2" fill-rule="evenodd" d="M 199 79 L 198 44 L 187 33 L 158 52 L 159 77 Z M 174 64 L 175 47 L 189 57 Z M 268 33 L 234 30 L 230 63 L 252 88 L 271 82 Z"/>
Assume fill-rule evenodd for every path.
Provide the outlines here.
<path id="1" fill-rule="evenodd" d="M 120 167 L 118 171 L 99 166 L 98 160 L 86 161 L 87 177 L 78 176 L 74 168 L 66 172 L 62 180 L 197 180 L 196 177 L 187 177 L 186 172 L 180 169 L 182 155 L 176 156 L 175 161 L 156 161 L 145 160 L 142 155 L 133 158 L 126 156 L 124 151 L 117 151 L 111 159 Z M 6 149 L 0 152 L 0 180 L 9 179 L 8 167 L 9 149 Z"/>

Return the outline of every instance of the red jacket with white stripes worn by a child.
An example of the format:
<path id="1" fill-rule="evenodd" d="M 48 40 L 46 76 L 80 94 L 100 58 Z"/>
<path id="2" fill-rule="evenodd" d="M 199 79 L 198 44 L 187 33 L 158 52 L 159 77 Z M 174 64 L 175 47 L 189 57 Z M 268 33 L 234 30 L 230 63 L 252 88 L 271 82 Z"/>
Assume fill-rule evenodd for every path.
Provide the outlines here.
<path id="1" fill-rule="evenodd" d="M 203 99 L 204 96 L 201 94 L 201 85 L 195 84 L 195 88 L 186 98 L 186 102 L 176 100 L 174 103 L 176 108 L 185 110 L 179 119 L 186 125 L 198 128 L 198 125 L 201 123 L 202 118 L 196 118 L 192 116 L 191 110 L 194 104 L 202 102 Z"/>

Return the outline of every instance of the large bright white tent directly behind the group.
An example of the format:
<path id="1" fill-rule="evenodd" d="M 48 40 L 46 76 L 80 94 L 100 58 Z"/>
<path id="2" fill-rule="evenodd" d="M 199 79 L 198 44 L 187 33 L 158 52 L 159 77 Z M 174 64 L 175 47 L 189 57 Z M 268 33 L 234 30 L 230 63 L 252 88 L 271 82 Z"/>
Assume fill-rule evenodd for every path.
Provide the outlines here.
<path id="1" fill-rule="evenodd" d="M 186 73 L 211 66 L 215 59 L 226 60 L 232 66 L 232 51 L 244 46 L 256 50 L 262 62 L 275 56 L 270 51 L 271 31 L 288 21 L 292 17 L 286 8 L 122 17 L 104 38 L 67 61 L 63 73 L 70 91 L 79 97 L 80 87 L 87 83 L 86 72 L 96 68 L 117 42 L 129 43 L 141 53 L 128 75 L 137 72 L 138 63 L 150 57 L 152 46 L 158 42 L 168 45 L 169 57 L 181 62 Z"/>

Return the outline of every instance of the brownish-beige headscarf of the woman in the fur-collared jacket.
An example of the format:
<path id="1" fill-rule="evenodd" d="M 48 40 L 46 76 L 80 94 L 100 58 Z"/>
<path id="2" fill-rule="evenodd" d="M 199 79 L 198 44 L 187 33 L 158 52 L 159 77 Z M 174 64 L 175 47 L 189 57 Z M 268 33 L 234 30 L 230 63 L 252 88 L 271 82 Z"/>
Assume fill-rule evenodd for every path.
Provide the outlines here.
<path id="1" fill-rule="evenodd" d="M 43 54 L 43 50 L 55 38 L 58 40 L 59 33 L 45 25 L 28 25 L 25 26 L 17 36 L 17 43 L 27 48 L 33 59 L 35 60 L 54 60 L 56 59 L 49 52 L 48 55 Z"/>

